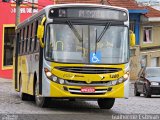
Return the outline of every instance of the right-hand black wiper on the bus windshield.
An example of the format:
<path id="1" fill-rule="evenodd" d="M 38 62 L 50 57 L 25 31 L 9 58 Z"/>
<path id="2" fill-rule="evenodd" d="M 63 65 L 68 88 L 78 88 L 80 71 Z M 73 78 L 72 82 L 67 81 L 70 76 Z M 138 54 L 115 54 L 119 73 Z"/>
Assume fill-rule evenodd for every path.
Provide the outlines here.
<path id="1" fill-rule="evenodd" d="M 107 29 L 110 27 L 111 23 L 106 23 L 103 31 L 101 32 L 101 34 L 99 35 L 99 37 L 97 38 L 97 29 L 96 29 L 96 40 L 95 40 L 95 53 L 97 52 L 97 43 L 102 39 L 103 35 L 105 34 L 105 32 L 107 31 Z"/>

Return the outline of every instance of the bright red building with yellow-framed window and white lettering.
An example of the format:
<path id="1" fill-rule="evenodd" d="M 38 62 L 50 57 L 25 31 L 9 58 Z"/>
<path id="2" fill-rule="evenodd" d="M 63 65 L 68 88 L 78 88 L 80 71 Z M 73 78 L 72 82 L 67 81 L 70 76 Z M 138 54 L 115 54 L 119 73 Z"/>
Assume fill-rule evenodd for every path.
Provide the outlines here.
<path id="1" fill-rule="evenodd" d="M 32 4 L 30 0 L 24 0 L 23 4 L 21 4 L 21 21 L 38 12 L 46 5 L 53 4 L 51 0 L 34 1 L 34 4 Z M 0 77 L 11 79 L 13 72 L 13 41 L 15 35 L 15 1 L 1 1 L 0 11 Z"/>

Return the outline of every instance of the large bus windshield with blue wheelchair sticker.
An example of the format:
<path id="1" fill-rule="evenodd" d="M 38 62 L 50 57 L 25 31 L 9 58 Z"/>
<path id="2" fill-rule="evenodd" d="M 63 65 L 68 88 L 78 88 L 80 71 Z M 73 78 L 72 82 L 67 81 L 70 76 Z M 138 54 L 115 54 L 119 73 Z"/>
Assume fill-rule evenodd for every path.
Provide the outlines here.
<path id="1" fill-rule="evenodd" d="M 97 62 L 91 60 L 95 54 Z M 45 56 L 47 60 L 64 63 L 126 63 L 129 60 L 128 27 L 109 23 L 49 24 Z"/>

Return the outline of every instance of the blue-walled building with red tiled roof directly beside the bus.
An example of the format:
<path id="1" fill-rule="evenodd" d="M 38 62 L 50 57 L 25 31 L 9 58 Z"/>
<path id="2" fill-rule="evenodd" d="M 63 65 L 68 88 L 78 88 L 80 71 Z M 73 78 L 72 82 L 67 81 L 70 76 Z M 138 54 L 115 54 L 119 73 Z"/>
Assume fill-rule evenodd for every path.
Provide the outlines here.
<path id="1" fill-rule="evenodd" d="M 107 0 L 110 5 L 125 7 L 129 11 L 130 18 L 130 30 L 132 30 L 136 35 L 136 46 L 130 48 L 131 57 L 130 67 L 131 67 L 131 79 L 137 79 L 139 70 L 141 69 L 140 65 L 140 43 L 141 43 L 141 17 L 149 12 L 149 10 L 138 5 L 135 0 Z"/>

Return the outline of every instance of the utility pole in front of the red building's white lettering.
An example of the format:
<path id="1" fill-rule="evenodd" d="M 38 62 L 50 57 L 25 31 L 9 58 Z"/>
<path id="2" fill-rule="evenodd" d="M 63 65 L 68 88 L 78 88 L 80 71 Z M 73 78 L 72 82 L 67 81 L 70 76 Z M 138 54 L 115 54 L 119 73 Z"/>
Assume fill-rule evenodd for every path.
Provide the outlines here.
<path id="1" fill-rule="evenodd" d="M 16 0 L 16 27 L 17 25 L 20 23 L 20 5 L 22 3 L 23 0 Z"/>

